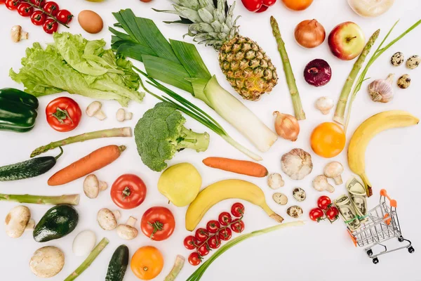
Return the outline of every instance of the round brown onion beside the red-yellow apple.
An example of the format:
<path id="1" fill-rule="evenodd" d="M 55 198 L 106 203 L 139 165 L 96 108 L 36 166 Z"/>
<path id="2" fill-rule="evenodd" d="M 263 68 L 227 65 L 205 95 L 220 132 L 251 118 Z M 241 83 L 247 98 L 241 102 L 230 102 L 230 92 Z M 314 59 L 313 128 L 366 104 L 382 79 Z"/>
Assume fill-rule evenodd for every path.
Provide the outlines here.
<path id="1" fill-rule="evenodd" d="M 295 27 L 295 40 L 305 48 L 314 48 L 326 39 L 326 31 L 317 20 L 303 20 Z"/>

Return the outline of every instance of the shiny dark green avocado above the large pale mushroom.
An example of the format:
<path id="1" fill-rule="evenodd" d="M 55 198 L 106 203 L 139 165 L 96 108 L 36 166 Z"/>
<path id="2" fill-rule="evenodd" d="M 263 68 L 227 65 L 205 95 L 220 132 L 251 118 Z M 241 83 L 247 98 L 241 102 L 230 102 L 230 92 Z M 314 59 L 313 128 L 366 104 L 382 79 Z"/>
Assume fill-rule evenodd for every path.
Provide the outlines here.
<path id="1" fill-rule="evenodd" d="M 48 211 L 35 226 L 34 240 L 47 242 L 59 239 L 71 233 L 76 228 L 79 215 L 76 209 L 70 205 L 57 205 Z"/>

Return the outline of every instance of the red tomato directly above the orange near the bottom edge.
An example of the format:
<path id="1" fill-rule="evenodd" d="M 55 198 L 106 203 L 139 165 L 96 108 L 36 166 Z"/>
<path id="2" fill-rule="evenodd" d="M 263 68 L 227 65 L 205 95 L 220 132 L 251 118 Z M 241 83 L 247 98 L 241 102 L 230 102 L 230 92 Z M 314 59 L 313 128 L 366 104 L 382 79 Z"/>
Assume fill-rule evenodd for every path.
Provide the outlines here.
<path id="1" fill-rule="evenodd" d="M 173 213 L 166 207 L 152 207 L 145 211 L 140 221 L 142 233 L 154 241 L 166 240 L 175 228 Z"/>

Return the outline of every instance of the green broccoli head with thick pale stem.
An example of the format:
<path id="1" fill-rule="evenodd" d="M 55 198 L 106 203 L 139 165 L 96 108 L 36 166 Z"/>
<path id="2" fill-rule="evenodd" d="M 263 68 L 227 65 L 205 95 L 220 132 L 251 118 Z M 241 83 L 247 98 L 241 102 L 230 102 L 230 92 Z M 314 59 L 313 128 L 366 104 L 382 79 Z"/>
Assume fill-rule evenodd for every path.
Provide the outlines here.
<path id="1" fill-rule="evenodd" d="M 186 119 L 172 103 L 157 103 L 147 110 L 135 126 L 135 142 L 142 162 L 154 171 L 167 167 L 166 160 L 175 152 L 192 148 L 205 151 L 209 145 L 208 133 L 186 129 Z"/>

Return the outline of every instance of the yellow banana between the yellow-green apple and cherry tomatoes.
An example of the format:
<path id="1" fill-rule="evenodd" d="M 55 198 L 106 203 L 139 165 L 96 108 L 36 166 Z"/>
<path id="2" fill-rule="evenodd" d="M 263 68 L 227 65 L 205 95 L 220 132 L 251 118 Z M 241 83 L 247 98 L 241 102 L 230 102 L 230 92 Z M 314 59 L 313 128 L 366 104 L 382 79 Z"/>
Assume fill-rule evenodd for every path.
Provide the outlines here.
<path id="1" fill-rule="evenodd" d="M 266 214 L 281 223 L 283 218 L 266 204 L 265 194 L 253 183 L 241 180 L 218 181 L 199 192 L 186 213 L 186 229 L 193 231 L 213 205 L 227 199 L 242 199 L 261 207 Z"/>

